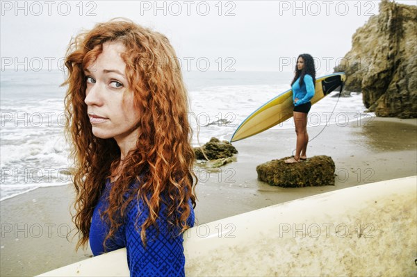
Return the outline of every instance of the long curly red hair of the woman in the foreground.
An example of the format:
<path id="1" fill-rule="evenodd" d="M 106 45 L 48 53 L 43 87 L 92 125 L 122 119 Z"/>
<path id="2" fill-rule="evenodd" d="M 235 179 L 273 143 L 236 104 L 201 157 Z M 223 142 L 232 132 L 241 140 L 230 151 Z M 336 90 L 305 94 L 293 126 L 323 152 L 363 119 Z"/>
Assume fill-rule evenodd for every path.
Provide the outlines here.
<path id="1" fill-rule="evenodd" d="M 106 179 L 114 177 L 111 172 L 120 164 L 120 149 L 115 140 L 100 139 L 92 134 L 84 103 L 86 76 L 83 69 L 99 56 L 104 42 L 122 42 L 126 47 L 122 54 L 126 78 L 140 113 L 136 149 L 124 158 L 122 172 L 107 199 L 108 208 L 101 214 L 101 219 L 109 226 L 104 246 L 123 224 L 131 201 L 142 200 L 149 208 L 149 217 L 141 226 L 136 225 L 145 245 L 146 229 L 152 225 L 157 227 L 162 203 L 167 207 L 170 228 L 181 233 L 189 228 L 190 200 L 195 207 L 197 177 L 193 172 L 195 154 L 190 142 L 188 98 L 174 49 L 165 35 L 129 19 L 115 18 L 96 24 L 91 31 L 72 38 L 65 59 L 68 71 L 63 83 L 68 86 L 65 131 L 72 142 L 74 158 L 76 212 L 72 220 L 79 237 L 76 249 L 88 242 L 93 210 Z M 132 186 L 132 183 L 139 185 Z"/>

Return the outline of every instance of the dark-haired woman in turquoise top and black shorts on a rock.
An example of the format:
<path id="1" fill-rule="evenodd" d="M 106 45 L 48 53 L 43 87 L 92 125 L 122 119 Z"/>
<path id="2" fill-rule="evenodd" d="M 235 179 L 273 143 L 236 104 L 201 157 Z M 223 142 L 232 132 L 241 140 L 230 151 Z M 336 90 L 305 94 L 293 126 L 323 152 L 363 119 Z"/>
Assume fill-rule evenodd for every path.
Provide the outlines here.
<path id="1" fill-rule="evenodd" d="M 307 144 L 309 135 L 307 134 L 307 115 L 311 108 L 310 100 L 314 96 L 316 86 L 316 69 L 313 57 L 309 54 L 301 54 L 297 58 L 295 76 L 291 87 L 293 87 L 294 103 L 294 124 L 297 133 L 297 146 L 295 155 L 285 160 L 286 163 L 300 162 L 306 160 Z"/>

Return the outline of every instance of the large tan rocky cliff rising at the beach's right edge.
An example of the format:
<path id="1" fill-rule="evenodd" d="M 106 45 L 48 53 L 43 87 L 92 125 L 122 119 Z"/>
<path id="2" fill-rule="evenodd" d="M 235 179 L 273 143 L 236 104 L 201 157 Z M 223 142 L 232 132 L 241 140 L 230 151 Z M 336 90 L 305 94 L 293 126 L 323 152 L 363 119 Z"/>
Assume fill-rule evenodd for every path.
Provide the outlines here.
<path id="1" fill-rule="evenodd" d="M 382 0 L 335 71 L 377 116 L 417 117 L 417 7 Z"/>

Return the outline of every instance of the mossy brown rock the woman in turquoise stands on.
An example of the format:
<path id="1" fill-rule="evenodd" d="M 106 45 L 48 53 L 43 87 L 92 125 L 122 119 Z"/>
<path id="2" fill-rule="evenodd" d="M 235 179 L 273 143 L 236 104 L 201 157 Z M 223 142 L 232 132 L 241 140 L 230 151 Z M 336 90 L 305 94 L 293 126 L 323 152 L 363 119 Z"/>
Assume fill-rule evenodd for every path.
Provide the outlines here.
<path id="1" fill-rule="evenodd" d="M 256 167 L 259 180 L 279 187 L 316 187 L 334 185 L 334 161 L 329 156 L 314 156 L 305 161 L 286 164 L 271 160 Z"/>

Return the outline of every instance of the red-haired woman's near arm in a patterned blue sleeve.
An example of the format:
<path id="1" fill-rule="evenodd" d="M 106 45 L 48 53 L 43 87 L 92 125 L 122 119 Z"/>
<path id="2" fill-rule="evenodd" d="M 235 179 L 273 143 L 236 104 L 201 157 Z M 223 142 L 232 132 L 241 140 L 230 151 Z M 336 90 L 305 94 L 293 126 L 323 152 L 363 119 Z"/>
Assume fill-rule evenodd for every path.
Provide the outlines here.
<path id="1" fill-rule="evenodd" d="M 138 211 L 142 211 L 138 219 L 140 226 L 148 216 L 147 208 L 140 207 L 133 200 L 129 206 L 127 214 L 126 250 L 127 262 L 131 276 L 185 276 L 183 255 L 183 237 L 174 236 L 167 228 L 167 220 L 163 217 L 163 207 L 161 207 L 160 217 L 157 219 L 159 233 L 154 226 L 147 228 L 147 246 L 142 244 L 140 239 L 140 228 L 136 230 L 135 221 Z"/>

